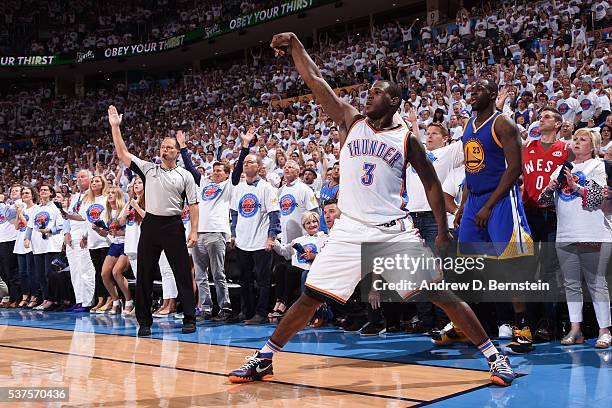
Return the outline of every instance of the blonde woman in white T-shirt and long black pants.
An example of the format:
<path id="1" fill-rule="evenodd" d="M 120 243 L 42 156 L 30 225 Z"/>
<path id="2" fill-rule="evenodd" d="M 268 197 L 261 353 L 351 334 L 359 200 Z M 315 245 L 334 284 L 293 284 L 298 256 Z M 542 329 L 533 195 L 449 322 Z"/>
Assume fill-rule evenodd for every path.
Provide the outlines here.
<path id="1" fill-rule="evenodd" d="M 95 296 L 98 302 L 90 309 L 92 313 L 104 306 L 108 296 L 102 282 L 102 265 L 108 253 L 109 243 L 106 237 L 99 234 L 101 230 L 95 225 L 96 222 L 106 218 L 106 186 L 107 182 L 103 176 L 93 176 L 79 209 L 82 220 L 87 221 L 87 232 L 83 235 L 80 246 L 89 249 L 91 261 L 96 270 Z"/>

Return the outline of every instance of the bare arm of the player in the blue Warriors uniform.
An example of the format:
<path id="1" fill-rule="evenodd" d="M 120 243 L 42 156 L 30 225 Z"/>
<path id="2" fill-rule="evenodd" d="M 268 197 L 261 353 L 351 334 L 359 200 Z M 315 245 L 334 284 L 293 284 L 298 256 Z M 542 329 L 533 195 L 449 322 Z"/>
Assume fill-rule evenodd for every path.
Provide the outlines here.
<path id="1" fill-rule="evenodd" d="M 523 172 L 523 160 L 521 157 L 521 136 L 518 127 L 506 116 L 502 115 L 495 122 L 495 134 L 497 135 L 504 156 L 506 157 L 506 170 L 482 209 L 476 214 L 476 223 L 485 228 L 495 204 L 512 188 L 516 180 Z"/>

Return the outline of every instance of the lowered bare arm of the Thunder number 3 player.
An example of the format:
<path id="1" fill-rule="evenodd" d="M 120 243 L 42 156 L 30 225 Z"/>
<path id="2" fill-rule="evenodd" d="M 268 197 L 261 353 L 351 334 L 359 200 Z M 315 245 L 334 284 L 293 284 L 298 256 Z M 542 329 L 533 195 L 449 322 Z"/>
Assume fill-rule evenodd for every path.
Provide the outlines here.
<path id="1" fill-rule="evenodd" d="M 440 184 L 431 160 L 427 159 L 423 144 L 419 142 L 416 136 L 411 133 L 406 143 L 408 144 L 406 158 L 423 183 L 427 202 L 438 224 L 436 247 L 438 250 L 444 251 L 448 247 L 451 238 L 448 233 L 448 219 L 446 218 L 442 184 Z"/>

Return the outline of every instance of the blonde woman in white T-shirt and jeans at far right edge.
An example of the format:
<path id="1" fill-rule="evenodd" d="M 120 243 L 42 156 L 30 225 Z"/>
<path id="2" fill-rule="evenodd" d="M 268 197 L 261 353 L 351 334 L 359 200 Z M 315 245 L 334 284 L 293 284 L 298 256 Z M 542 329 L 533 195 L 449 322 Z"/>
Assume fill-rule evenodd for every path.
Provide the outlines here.
<path id="1" fill-rule="evenodd" d="M 540 197 L 540 203 L 554 203 L 557 210 L 556 249 L 571 322 L 569 333 L 561 340 L 563 345 L 584 343 L 580 329 L 582 276 L 599 324 L 595 347 L 608 348 L 612 341 L 610 295 L 606 282 L 606 269 L 612 252 L 612 225 L 602 210 L 607 179 L 605 164 L 598 158 L 600 145 L 599 130 L 577 130 L 572 141 L 573 167 L 570 169 L 564 165 L 557 168 Z"/>

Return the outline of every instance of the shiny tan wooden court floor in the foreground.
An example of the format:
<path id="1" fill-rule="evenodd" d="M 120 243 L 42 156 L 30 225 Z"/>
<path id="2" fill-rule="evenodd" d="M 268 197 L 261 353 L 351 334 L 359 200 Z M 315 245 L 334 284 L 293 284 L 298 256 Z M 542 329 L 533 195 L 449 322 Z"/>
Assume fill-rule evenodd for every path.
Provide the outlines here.
<path id="1" fill-rule="evenodd" d="M 249 353 L 177 340 L 0 326 L 0 387 L 69 387 L 70 400 L 61 405 L 70 407 L 410 407 L 489 386 L 486 371 L 292 352 L 275 358 L 271 381 L 229 383 L 226 373 Z"/>

